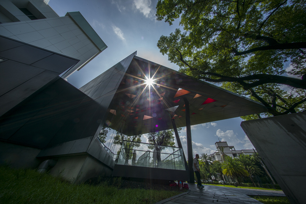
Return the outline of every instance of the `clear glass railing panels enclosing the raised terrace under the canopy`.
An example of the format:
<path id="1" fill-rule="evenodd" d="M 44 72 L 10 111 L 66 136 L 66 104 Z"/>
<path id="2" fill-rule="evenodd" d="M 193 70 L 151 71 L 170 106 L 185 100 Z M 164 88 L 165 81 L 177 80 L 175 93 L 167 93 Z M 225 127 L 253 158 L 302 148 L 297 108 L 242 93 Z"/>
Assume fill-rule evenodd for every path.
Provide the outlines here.
<path id="1" fill-rule="evenodd" d="M 117 164 L 186 170 L 182 148 L 127 140 L 123 141 Z"/>

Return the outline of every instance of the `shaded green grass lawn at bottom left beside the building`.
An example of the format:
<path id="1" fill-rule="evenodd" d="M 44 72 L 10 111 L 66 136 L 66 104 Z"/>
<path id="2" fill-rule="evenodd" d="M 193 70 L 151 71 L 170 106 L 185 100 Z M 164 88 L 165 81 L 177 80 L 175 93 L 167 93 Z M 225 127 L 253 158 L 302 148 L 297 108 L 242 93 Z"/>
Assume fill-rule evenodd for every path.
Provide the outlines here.
<path id="1" fill-rule="evenodd" d="M 180 193 L 76 185 L 47 173 L 0 166 L 0 203 L 155 203 Z"/>

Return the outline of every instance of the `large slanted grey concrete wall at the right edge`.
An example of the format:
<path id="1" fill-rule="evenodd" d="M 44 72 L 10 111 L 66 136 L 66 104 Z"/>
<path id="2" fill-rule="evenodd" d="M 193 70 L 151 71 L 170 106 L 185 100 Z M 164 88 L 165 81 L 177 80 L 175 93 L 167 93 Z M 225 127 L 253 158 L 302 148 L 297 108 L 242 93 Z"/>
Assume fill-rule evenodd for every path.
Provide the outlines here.
<path id="1" fill-rule="evenodd" d="M 291 203 L 306 203 L 306 112 L 241 122 Z"/>

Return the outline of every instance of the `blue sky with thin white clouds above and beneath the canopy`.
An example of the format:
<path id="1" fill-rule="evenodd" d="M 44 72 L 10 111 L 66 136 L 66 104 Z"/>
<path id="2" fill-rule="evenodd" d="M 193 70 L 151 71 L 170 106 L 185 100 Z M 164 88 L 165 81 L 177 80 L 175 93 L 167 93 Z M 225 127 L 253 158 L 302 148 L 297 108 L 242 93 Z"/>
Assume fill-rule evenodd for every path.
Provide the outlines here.
<path id="1" fill-rule="evenodd" d="M 59 16 L 80 11 L 108 46 L 80 71 L 73 73 L 68 82 L 80 88 L 135 51 L 137 56 L 178 70 L 176 64 L 168 61 L 168 56 L 159 52 L 156 44 L 161 35 L 169 35 L 180 27 L 179 21 L 176 20 L 171 26 L 163 21 L 156 21 L 156 3 L 157 0 L 50 0 L 49 5 Z M 227 141 L 236 150 L 252 149 L 253 145 L 240 127 L 241 121 L 241 118 L 232 118 L 192 126 L 193 154 L 213 153 L 218 139 Z M 180 137 L 186 153 L 185 128 Z M 107 139 L 110 140 L 110 136 Z M 142 141 L 147 142 L 145 135 L 142 136 Z"/>

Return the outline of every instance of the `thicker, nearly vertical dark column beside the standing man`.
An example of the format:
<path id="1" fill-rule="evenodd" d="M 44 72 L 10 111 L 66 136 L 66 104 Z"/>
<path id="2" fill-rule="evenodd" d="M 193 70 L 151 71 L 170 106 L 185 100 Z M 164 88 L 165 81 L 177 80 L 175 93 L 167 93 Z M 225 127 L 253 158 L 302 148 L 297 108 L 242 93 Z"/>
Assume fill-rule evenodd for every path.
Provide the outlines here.
<path id="1" fill-rule="evenodd" d="M 185 101 L 185 113 L 186 113 L 186 137 L 187 137 L 187 153 L 188 153 L 188 167 L 189 167 L 189 182 L 194 184 L 194 171 L 192 168 L 193 156 L 192 156 L 192 140 L 191 140 L 191 127 L 190 127 L 190 111 L 189 102 L 186 98 Z"/>

